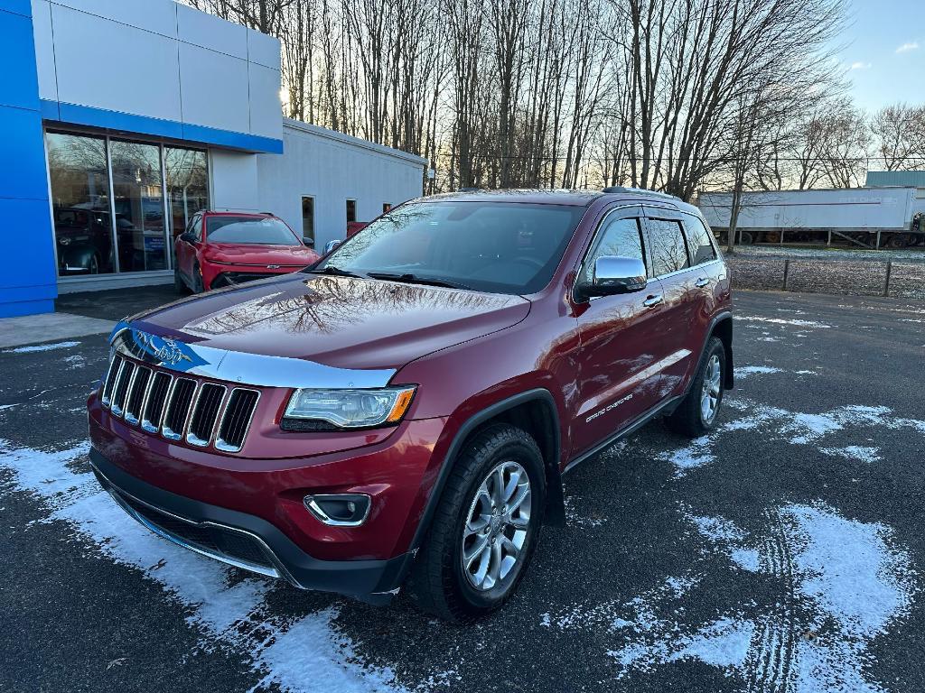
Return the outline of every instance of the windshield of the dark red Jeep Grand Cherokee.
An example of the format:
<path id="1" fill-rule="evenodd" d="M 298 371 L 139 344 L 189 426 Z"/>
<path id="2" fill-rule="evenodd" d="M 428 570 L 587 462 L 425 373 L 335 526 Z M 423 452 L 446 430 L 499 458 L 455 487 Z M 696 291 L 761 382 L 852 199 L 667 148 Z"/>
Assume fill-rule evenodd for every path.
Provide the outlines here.
<path id="1" fill-rule="evenodd" d="M 389 274 L 478 291 L 532 294 L 549 284 L 584 207 L 415 202 L 380 217 L 314 269 Z"/>

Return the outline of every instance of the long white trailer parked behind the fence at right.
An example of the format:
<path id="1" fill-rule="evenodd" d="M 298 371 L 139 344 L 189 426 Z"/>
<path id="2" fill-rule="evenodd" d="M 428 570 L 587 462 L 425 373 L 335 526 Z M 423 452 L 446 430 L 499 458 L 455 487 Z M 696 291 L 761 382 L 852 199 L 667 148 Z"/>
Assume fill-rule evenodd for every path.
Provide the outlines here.
<path id="1" fill-rule="evenodd" d="M 697 205 L 722 233 L 729 229 L 732 201 L 731 192 L 708 192 Z M 923 213 L 925 188 L 746 192 L 736 226 L 744 242 L 824 239 L 831 245 L 834 236 L 861 246 L 902 248 L 925 242 Z"/>

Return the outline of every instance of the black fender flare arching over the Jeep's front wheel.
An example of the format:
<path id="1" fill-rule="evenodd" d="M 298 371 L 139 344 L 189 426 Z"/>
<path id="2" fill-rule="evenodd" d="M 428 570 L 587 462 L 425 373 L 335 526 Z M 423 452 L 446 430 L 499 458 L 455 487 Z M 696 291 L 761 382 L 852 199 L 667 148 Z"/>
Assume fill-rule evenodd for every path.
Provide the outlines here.
<path id="1" fill-rule="evenodd" d="M 517 395 L 512 395 L 501 399 L 494 404 L 481 409 L 466 419 L 459 431 L 453 436 L 447 455 L 440 465 L 440 472 L 437 481 L 434 482 L 434 488 L 431 489 L 430 497 L 427 499 L 424 513 L 418 522 L 417 529 L 414 530 L 414 537 L 409 551 L 416 552 L 424 543 L 427 531 L 430 529 L 430 523 L 433 520 L 434 512 L 443 495 L 443 489 L 447 480 L 450 478 L 450 470 L 453 467 L 453 460 L 459 455 L 462 444 L 465 443 L 469 435 L 480 425 L 490 419 L 494 419 L 499 414 L 527 402 L 541 401 L 549 408 L 549 415 L 552 419 L 552 455 L 551 459 L 546 459 L 546 514 L 544 524 L 554 527 L 564 527 L 565 525 L 565 503 L 562 495 L 562 480 L 559 469 L 561 459 L 561 434 L 559 412 L 556 408 L 556 402 L 549 390 L 537 387 L 532 390 L 526 390 Z"/>

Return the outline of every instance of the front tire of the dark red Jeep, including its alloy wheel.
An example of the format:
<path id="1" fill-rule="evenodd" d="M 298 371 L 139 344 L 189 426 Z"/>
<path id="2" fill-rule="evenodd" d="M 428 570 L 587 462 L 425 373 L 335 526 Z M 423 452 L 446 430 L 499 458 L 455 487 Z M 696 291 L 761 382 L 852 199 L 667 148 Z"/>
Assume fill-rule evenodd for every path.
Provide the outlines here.
<path id="1" fill-rule="evenodd" d="M 495 424 L 466 442 L 418 553 L 411 591 L 423 610 L 468 623 L 498 610 L 533 557 L 546 505 L 536 441 Z"/>

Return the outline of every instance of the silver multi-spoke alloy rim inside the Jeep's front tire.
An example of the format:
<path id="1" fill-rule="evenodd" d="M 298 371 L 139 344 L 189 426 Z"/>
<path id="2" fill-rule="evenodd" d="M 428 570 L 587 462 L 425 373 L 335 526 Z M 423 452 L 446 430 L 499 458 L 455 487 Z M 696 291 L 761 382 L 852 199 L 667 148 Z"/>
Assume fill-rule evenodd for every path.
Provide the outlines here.
<path id="1" fill-rule="evenodd" d="M 520 464 L 501 462 L 482 480 L 462 527 L 462 572 L 479 591 L 516 575 L 530 531 L 530 478 Z"/>

